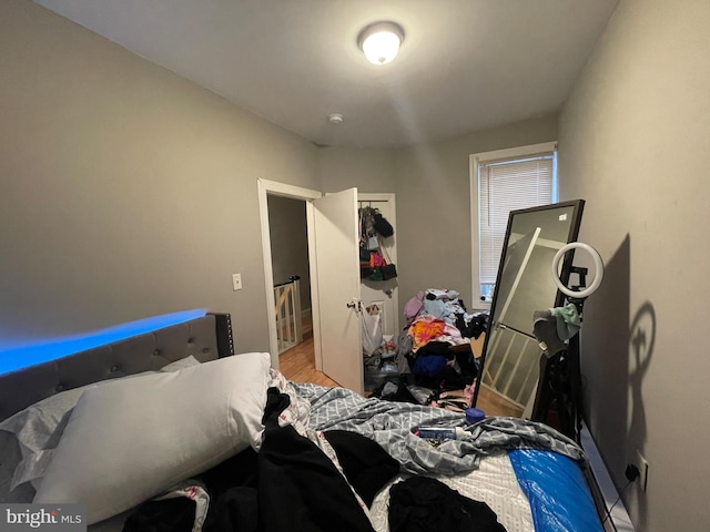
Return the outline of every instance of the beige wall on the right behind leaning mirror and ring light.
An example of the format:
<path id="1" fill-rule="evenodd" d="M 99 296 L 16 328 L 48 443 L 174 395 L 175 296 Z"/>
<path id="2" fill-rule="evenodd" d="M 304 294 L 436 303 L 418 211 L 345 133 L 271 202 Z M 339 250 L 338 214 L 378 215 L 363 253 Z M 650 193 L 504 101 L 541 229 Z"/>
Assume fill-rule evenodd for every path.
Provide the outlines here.
<path id="1" fill-rule="evenodd" d="M 704 531 L 710 492 L 710 2 L 622 0 L 560 121 L 562 197 L 607 262 L 582 335 L 591 428 L 638 531 Z"/>

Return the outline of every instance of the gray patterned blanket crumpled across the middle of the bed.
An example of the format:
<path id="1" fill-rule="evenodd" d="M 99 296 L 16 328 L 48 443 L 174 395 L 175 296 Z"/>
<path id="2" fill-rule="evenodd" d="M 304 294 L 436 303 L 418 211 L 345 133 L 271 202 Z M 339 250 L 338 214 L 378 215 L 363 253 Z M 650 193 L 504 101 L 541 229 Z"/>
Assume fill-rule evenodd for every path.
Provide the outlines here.
<path id="1" fill-rule="evenodd" d="M 379 443 L 404 472 L 455 474 L 478 467 L 481 456 L 506 449 L 551 450 L 586 462 L 577 443 L 542 423 L 518 418 L 486 418 L 467 427 L 463 413 L 365 398 L 344 388 L 293 383 L 311 403 L 308 428 L 349 430 Z M 418 427 L 464 427 L 466 434 L 433 447 L 413 433 Z"/>

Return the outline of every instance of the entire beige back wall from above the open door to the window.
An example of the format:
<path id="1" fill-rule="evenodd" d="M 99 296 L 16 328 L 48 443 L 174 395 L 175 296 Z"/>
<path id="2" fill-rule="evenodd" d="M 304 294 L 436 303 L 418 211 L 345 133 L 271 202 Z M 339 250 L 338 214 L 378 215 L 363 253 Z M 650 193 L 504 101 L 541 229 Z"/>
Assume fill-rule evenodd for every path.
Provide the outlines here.
<path id="1" fill-rule="evenodd" d="M 326 192 L 396 194 L 399 311 L 426 288 L 456 289 L 470 307 L 469 155 L 555 140 L 551 115 L 399 150 L 323 147 L 320 171 Z"/>

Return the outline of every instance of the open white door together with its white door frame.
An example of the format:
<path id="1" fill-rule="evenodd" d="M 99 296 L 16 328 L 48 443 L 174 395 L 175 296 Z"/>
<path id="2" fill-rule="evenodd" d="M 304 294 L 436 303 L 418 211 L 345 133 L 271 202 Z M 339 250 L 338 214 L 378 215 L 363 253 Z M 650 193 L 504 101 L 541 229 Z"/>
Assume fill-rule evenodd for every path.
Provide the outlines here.
<path id="1" fill-rule="evenodd" d="M 272 366 L 280 368 L 270 195 L 305 202 L 315 367 L 341 386 L 362 392 L 357 190 L 323 195 L 267 180 L 258 180 L 257 186 Z"/>

